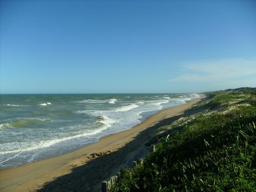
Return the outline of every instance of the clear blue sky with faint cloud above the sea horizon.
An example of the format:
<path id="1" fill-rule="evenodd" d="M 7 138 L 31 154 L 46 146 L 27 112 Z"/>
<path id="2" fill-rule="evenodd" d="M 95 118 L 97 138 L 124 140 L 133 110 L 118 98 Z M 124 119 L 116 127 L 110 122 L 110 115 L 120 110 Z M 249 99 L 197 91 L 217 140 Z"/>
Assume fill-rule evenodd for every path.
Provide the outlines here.
<path id="1" fill-rule="evenodd" d="M 256 87 L 256 1 L 1 1 L 0 93 Z"/>

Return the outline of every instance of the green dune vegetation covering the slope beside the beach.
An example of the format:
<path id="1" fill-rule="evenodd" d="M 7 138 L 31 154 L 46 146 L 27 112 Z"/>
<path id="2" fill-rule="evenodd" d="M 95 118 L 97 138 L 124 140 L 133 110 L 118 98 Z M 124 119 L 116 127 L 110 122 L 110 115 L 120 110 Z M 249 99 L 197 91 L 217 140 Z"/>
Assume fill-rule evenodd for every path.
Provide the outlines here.
<path id="1" fill-rule="evenodd" d="M 255 190 L 255 89 L 206 95 L 187 112 L 195 113 L 160 127 L 156 152 L 123 169 L 111 191 Z"/>

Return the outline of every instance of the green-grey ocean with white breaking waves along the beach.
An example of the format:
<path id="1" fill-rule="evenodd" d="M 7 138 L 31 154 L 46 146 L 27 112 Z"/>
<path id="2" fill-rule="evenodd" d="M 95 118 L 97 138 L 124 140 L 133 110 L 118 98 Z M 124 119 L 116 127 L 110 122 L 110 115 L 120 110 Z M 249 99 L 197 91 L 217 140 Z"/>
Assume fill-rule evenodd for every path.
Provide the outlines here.
<path id="1" fill-rule="evenodd" d="M 198 94 L 0 95 L 0 168 L 59 156 Z"/>

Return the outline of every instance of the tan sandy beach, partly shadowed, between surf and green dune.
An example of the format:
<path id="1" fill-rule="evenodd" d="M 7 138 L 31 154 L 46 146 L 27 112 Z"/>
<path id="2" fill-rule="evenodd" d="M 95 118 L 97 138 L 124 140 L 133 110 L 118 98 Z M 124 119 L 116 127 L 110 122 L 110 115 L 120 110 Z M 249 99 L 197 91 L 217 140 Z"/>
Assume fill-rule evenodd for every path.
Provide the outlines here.
<path id="1" fill-rule="evenodd" d="M 154 130 L 171 123 L 200 98 L 164 109 L 130 130 L 55 158 L 0 170 L 0 191 L 99 191 L 101 182 L 144 157 Z"/>

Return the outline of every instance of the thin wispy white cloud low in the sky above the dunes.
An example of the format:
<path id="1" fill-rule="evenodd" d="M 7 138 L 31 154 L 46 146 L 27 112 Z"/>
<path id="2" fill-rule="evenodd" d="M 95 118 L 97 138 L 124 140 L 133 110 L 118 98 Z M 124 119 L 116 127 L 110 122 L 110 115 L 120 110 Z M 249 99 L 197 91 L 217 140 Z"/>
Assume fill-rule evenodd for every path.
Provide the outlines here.
<path id="1" fill-rule="evenodd" d="M 216 82 L 237 80 L 255 75 L 256 59 L 225 59 L 190 63 L 183 66 L 183 74 L 169 79 L 171 82 Z"/>

